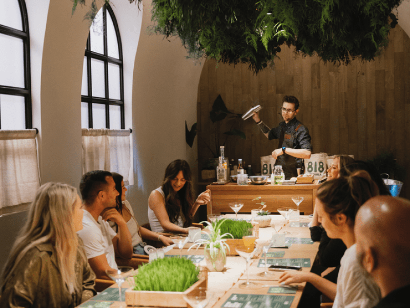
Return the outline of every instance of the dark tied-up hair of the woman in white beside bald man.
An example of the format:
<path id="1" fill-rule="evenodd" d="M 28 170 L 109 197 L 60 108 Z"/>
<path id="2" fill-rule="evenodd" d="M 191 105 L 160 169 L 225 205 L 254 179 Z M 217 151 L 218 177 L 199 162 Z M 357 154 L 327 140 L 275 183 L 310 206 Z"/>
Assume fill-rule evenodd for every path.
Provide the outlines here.
<path id="1" fill-rule="evenodd" d="M 368 199 L 378 196 L 379 188 L 370 175 L 359 170 L 348 177 L 326 181 L 317 190 L 316 197 L 333 222 L 337 214 L 346 215 L 353 226 L 359 207 Z"/>

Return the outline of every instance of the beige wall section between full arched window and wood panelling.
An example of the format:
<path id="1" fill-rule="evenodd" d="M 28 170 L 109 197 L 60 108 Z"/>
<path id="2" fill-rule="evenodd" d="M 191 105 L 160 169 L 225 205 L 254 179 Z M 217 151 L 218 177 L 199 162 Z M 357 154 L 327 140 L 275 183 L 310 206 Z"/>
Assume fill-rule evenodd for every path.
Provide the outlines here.
<path id="1" fill-rule="evenodd" d="M 142 30 L 135 56 L 133 137 L 135 182 L 127 198 L 141 209 L 138 222 L 148 222 L 147 199 L 161 184 L 167 165 L 185 159 L 196 174 L 196 143 L 185 142 L 185 121 L 196 122 L 196 100 L 202 66 L 185 58 L 179 38 L 149 35 L 151 2 L 144 1 Z M 196 181 L 196 175 L 195 175 Z"/>

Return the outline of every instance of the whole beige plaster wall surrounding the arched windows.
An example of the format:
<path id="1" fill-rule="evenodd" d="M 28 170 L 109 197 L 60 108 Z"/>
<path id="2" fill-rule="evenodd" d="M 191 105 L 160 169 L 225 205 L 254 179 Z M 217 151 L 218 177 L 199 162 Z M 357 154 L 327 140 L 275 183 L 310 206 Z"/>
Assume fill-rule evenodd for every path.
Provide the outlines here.
<path id="1" fill-rule="evenodd" d="M 133 129 L 135 176 L 127 198 L 142 224 L 148 222 L 149 193 L 159 184 L 167 164 L 181 158 L 195 165 L 196 148 L 185 143 L 185 120 L 189 125 L 196 122 L 201 66 L 185 59 L 179 40 L 169 43 L 162 36 L 148 35 L 150 2 L 140 5 L 144 18 L 142 11 L 127 0 L 110 2 L 122 39 L 126 128 Z M 26 0 L 26 5 L 40 176 L 42 183 L 59 181 L 78 188 L 81 79 L 89 32 L 89 24 L 83 19 L 87 8 L 78 6 L 71 16 L 70 0 Z M 0 217 L 0 245 L 5 251 L 10 250 L 25 218 L 26 213 Z M 0 267 L 7 255 L 0 256 Z"/>

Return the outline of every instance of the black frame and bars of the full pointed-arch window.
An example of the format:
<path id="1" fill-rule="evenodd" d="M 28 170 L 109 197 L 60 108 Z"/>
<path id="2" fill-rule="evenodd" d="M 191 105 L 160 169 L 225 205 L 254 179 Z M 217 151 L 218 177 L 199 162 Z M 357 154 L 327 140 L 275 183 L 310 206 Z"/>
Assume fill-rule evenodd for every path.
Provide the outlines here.
<path id="1" fill-rule="evenodd" d="M 117 36 L 118 44 L 118 57 L 108 56 L 108 43 L 107 43 L 107 11 L 111 16 L 111 20 L 114 25 L 114 30 Z M 81 95 L 81 102 L 88 104 L 88 128 L 93 128 L 93 114 L 92 114 L 92 104 L 103 104 L 105 105 L 106 114 L 106 128 L 110 128 L 110 105 L 120 107 L 120 122 L 121 129 L 125 129 L 125 113 L 124 113 L 124 64 L 122 58 L 122 43 L 121 36 L 119 34 L 119 28 L 117 20 L 115 18 L 114 12 L 110 5 L 105 4 L 103 6 L 103 40 L 104 40 L 104 54 L 100 54 L 91 51 L 91 35 L 88 34 L 87 47 L 85 56 L 87 58 L 87 89 L 88 95 Z M 92 72 L 91 72 L 91 59 L 96 59 L 104 62 L 104 72 L 105 72 L 105 98 L 93 97 L 92 96 Z M 108 64 L 113 63 L 119 66 L 119 87 L 120 87 L 120 99 L 114 100 L 109 98 L 109 83 L 108 83 Z"/>

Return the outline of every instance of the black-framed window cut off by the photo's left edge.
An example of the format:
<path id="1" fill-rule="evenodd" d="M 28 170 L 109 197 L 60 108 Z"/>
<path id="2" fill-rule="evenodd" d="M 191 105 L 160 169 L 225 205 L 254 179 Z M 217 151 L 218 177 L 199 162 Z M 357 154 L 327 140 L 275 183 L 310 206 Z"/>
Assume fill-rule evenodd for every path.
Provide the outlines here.
<path id="1" fill-rule="evenodd" d="M 32 128 L 30 36 L 24 0 L 0 4 L 0 129 Z"/>

